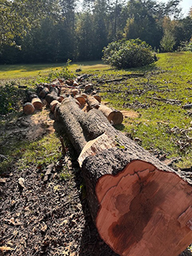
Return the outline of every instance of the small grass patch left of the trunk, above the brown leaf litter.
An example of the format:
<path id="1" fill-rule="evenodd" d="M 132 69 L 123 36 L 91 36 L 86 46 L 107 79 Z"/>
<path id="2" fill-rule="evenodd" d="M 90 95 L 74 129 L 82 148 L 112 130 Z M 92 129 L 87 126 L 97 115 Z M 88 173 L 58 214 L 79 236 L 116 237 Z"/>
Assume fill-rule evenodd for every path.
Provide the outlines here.
<path id="1" fill-rule="evenodd" d="M 0 145 L 0 154 L 8 158 L 0 162 L 1 172 L 8 172 L 13 163 L 18 170 L 30 166 L 44 169 L 48 164 L 56 162 L 62 155 L 56 134 L 44 136 L 35 142 L 18 141 L 17 137 L 8 139 L 6 136 L 0 136 Z"/>

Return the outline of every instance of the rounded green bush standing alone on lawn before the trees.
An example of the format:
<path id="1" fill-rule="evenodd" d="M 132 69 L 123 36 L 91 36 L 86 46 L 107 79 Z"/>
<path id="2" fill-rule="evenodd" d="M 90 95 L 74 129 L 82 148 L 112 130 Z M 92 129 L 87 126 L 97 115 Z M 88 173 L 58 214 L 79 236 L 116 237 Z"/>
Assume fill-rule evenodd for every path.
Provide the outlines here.
<path id="1" fill-rule="evenodd" d="M 145 66 L 154 62 L 151 46 L 139 38 L 113 41 L 103 49 L 102 60 L 117 69 Z"/>

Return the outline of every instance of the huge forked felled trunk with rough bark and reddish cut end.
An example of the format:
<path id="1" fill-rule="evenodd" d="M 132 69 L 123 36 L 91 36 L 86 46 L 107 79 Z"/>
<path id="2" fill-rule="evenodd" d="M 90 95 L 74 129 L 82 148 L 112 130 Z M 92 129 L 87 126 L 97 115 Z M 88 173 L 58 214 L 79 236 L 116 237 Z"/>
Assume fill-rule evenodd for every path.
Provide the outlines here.
<path id="1" fill-rule="evenodd" d="M 192 242 L 192 181 L 68 98 L 55 115 L 78 152 L 90 213 L 117 254 L 178 256 Z"/>

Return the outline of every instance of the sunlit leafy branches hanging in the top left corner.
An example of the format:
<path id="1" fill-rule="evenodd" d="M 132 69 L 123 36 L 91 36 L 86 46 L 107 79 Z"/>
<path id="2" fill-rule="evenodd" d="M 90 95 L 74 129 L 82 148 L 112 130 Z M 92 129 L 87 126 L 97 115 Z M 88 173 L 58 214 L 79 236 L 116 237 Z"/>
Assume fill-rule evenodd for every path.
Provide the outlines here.
<path id="1" fill-rule="evenodd" d="M 47 14 L 56 14 L 56 7 L 56 0 L 0 0 L 0 47 L 16 44 L 14 38 L 23 38 Z"/>

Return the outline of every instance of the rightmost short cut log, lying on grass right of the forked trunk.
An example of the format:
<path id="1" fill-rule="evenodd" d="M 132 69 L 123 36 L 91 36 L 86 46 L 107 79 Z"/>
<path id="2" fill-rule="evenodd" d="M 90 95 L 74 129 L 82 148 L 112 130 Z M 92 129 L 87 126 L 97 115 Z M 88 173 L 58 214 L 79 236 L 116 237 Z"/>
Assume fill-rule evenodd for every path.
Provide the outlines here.
<path id="1" fill-rule="evenodd" d="M 123 122 L 123 114 L 115 109 L 108 108 L 106 105 L 99 105 L 99 110 L 108 118 L 108 121 L 114 125 Z"/>

